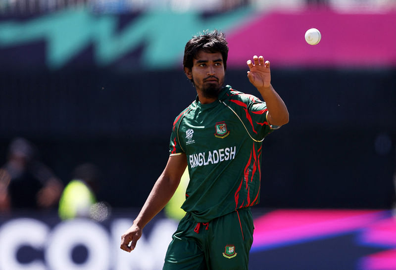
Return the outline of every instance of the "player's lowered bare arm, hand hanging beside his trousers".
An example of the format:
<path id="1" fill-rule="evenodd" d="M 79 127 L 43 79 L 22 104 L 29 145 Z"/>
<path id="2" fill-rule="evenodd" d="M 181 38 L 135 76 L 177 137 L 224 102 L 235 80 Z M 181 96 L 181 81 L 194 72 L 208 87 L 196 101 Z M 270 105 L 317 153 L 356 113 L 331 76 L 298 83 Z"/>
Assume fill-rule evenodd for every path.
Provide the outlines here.
<path id="1" fill-rule="evenodd" d="M 151 189 L 138 217 L 133 221 L 132 226 L 121 236 L 120 248 L 122 250 L 131 252 L 135 249 L 136 242 L 142 236 L 143 228 L 172 198 L 186 166 L 186 154 L 169 156 L 164 171 Z"/>

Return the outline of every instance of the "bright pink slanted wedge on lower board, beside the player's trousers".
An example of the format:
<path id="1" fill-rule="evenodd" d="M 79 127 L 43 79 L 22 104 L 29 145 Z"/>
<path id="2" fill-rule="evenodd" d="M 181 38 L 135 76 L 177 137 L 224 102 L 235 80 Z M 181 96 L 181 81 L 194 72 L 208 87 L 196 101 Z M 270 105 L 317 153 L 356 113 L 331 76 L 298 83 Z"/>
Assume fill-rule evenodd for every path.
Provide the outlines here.
<path id="1" fill-rule="evenodd" d="M 254 220 L 253 248 L 345 233 L 383 217 L 377 210 L 277 210 Z"/>

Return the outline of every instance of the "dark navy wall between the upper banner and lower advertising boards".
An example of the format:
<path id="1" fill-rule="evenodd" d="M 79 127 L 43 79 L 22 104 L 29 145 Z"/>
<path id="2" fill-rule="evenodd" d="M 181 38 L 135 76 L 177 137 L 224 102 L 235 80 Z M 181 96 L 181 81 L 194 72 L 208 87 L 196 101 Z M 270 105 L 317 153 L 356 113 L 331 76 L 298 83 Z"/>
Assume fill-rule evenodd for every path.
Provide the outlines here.
<path id="1" fill-rule="evenodd" d="M 275 64 L 274 64 L 275 66 Z M 139 207 L 168 158 L 175 116 L 195 89 L 179 69 L 134 73 L 3 70 L 0 157 L 20 135 L 62 180 L 83 162 L 100 196 Z M 394 200 L 396 71 L 272 69 L 290 123 L 264 140 L 261 206 L 389 208 Z M 226 83 L 257 94 L 246 69 Z"/>

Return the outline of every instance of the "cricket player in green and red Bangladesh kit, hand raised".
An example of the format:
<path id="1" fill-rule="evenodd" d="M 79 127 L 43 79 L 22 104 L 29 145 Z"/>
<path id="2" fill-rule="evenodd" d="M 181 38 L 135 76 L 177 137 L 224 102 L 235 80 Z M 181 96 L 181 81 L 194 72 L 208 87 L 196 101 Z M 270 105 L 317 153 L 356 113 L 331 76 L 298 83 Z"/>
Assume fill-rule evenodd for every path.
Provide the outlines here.
<path id="1" fill-rule="evenodd" d="M 184 72 L 197 98 L 176 117 L 166 167 L 121 236 L 120 248 L 134 250 L 188 166 L 182 205 L 187 213 L 168 246 L 165 270 L 248 267 L 254 228 L 250 207 L 259 202 L 262 141 L 289 122 L 289 112 L 271 85 L 270 63 L 262 56 L 247 61 L 247 78 L 265 102 L 223 87 L 227 56 L 225 36 L 216 30 L 186 44 Z"/>

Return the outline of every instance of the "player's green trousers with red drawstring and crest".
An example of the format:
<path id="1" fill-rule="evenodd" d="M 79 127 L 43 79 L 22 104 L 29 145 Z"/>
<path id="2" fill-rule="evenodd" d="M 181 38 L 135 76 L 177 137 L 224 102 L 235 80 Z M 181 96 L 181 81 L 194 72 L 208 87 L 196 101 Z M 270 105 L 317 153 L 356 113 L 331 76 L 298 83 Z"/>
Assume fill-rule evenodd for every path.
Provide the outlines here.
<path id="1" fill-rule="evenodd" d="M 247 270 L 253 229 L 250 208 L 208 223 L 187 213 L 172 236 L 163 270 Z"/>

